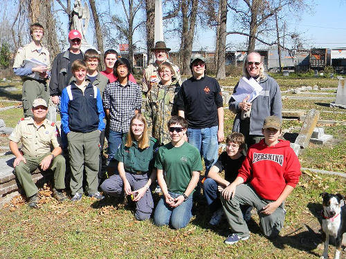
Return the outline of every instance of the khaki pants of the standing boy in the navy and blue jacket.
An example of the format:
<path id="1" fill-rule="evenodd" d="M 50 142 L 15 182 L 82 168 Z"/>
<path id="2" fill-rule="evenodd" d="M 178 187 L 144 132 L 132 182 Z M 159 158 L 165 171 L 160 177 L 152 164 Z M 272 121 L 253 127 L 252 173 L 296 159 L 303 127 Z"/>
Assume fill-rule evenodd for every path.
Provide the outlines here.
<path id="1" fill-rule="evenodd" d="M 98 166 L 100 155 L 100 131 L 80 133 L 70 131 L 67 134 L 69 160 L 71 166 L 71 194 L 83 193 L 83 171 L 86 173 L 86 191 L 94 194 L 98 191 Z"/>

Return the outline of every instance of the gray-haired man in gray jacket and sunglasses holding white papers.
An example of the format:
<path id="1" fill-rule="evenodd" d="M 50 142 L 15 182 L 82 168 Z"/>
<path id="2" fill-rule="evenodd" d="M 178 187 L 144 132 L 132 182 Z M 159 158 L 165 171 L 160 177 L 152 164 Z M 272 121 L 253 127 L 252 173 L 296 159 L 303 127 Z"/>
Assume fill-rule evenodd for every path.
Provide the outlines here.
<path id="1" fill-rule="evenodd" d="M 243 77 L 246 79 L 252 77 L 262 87 L 259 95 L 252 102 L 249 102 L 249 96 L 242 102 L 237 102 L 231 97 L 228 102 L 230 111 L 237 115 L 232 131 L 242 133 L 249 148 L 262 140 L 262 125 L 266 117 L 275 115 L 282 119 L 282 100 L 279 85 L 272 77 L 264 73 L 260 53 L 248 53 L 244 60 Z M 239 82 L 233 94 L 237 93 L 238 85 Z"/>

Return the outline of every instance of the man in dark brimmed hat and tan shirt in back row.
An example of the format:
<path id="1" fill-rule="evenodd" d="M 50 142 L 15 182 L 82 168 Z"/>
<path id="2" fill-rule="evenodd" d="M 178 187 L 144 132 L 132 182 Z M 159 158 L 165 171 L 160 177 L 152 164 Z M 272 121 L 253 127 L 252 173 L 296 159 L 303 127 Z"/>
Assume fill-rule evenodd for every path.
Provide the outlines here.
<path id="1" fill-rule="evenodd" d="M 168 61 L 168 51 L 170 51 L 170 48 L 166 47 L 166 44 L 164 41 L 157 41 L 155 44 L 155 47 L 152 48 L 152 52 L 154 52 L 156 61 L 143 71 L 143 83 L 142 83 L 142 92 L 147 94 L 147 92 L 152 88 L 153 84 L 158 84 L 158 82 L 161 80 L 160 76 L 158 75 L 158 66 L 162 64 L 165 61 Z M 174 66 L 174 72 L 176 75 L 176 81 L 179 82 L 179 85 L 181 86 L 181 75 L 180 70 L 178 66 Z"/>

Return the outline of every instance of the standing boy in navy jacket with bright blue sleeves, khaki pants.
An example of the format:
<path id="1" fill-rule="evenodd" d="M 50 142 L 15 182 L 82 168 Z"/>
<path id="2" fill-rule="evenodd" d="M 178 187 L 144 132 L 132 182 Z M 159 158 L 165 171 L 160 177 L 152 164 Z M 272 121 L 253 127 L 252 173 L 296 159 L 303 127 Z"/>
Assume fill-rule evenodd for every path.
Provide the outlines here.
<path id="1" fill-rule="evenodd" d="M 71 201 L 82 199 L 83 170 L 88 195 L 98 200 L 100 133 L 104 129 L 104 111 L 100 90 L 85 80 L 87 66 L 82 60 L 72 63 L 75 82 L 62 90 L 62 128 L 67 135 L 71 165 Z"/>

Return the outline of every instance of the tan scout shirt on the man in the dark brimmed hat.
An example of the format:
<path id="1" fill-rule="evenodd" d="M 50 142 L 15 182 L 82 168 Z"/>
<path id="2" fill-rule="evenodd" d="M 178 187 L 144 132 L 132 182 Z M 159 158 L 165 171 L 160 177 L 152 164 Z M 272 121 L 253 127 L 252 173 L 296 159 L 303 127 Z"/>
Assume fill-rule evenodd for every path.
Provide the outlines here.
<path id="1" fill-rule="evenodd" d="M 169 61 L 167 61 L 169 62 Z M 170 64 L 172 64 L 170 62 Z M 180 70 L 178 66 L 173 65 L 173 69 L 175 72 L 175 78 L 178 81 L 179 85 L 182 84 Z M 147 93 L 153 84 L 158 84 L 161 81 L 160 76 L 158 75 L 158 64 L 156 62 L 147 66 L 143 71 L 143 82 L 142 82 L 142 92 Z"/>

